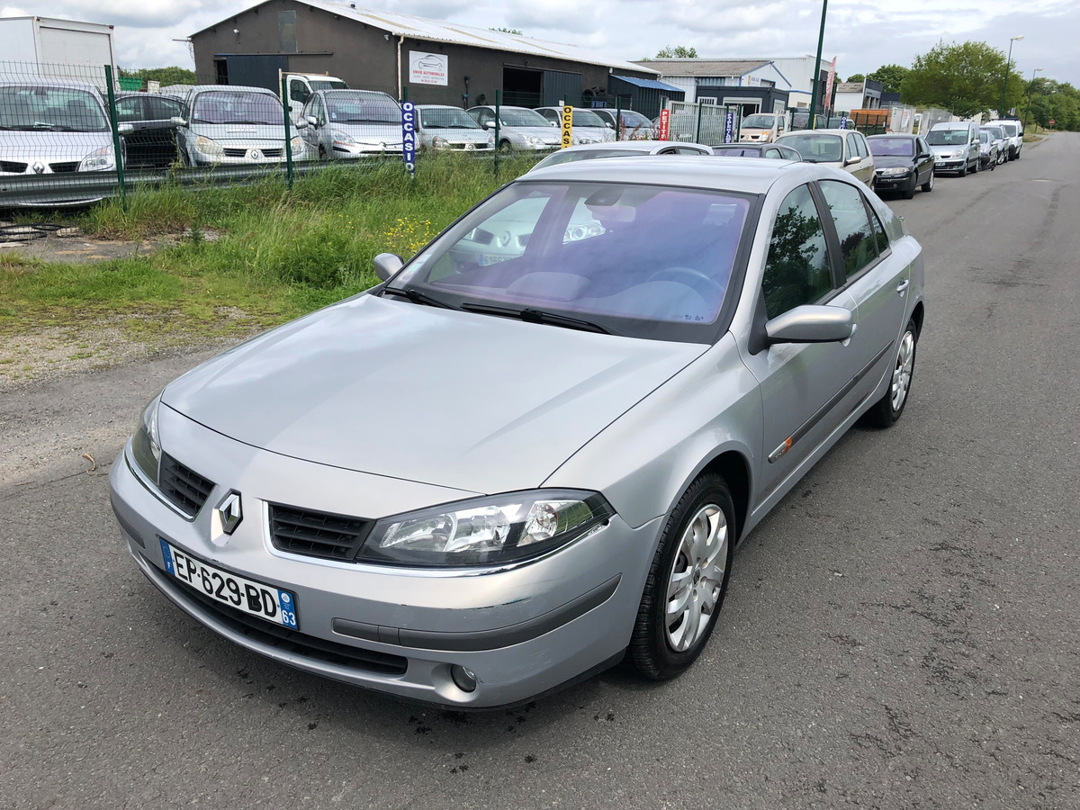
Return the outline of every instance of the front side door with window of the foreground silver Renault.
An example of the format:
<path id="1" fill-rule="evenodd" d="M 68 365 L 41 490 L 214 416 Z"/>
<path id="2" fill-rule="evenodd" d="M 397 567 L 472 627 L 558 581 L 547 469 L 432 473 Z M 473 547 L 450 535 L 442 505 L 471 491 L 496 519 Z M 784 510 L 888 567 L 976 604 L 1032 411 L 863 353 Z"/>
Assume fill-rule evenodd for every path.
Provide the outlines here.
<path id="1" fill-rule="evenodd" d="M 854 312 L 854 300 L 839 288 L 835 248 L 829 247 L 835 237 L 826 235 L 832 225 L 822 211 L 820 194 L 809 184 L 781 202 L 760 276 L 759 323 L 811 303 Z M 850 346 L 834 342 L 747 346 L 744 363 L 761 392 L 758 492 L 764 500 L 847 416 L 845 387 L 858 362 Z"/>

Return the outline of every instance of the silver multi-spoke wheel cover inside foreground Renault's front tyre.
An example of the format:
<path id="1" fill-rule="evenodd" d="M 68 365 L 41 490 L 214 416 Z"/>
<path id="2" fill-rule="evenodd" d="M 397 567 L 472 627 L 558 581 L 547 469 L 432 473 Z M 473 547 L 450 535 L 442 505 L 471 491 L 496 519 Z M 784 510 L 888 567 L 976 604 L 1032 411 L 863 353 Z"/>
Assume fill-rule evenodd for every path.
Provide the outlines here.
<path id="1" fill-rule="evenodd" d="M 669 646 L 685 652 L 708 629 L 728 561 L 728 523 L 715 503 L 698 510 L 679 540 L 667 577 L 664 626 Z"/>

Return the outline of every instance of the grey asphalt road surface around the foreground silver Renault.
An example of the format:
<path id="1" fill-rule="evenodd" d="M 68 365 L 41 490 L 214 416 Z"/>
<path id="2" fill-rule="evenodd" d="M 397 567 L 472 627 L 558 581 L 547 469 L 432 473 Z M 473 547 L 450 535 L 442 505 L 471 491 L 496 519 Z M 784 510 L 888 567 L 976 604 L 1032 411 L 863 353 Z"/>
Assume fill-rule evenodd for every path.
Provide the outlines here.
<path id="1" fill-rule="evenodd" d="M 0 808 L 1080 808 L 1078 154 L 892 203 L 927 265 L 907 410 L 753 532 L 666 685 L 460 715 L 262 660 L 166 603 L 108 505 L 201 357 L 0 393 Z"/>

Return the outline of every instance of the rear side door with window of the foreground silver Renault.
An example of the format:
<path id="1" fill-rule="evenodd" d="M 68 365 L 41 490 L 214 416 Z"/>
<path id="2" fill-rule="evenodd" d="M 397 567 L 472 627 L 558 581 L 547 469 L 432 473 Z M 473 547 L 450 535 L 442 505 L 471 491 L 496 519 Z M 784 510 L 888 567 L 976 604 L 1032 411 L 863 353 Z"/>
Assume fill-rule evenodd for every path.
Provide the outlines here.
<path id="1" fill-rule="evenodd" d="M 862 189 L 843 180 L 820 180 L 833 219 L 843 286 L 855 305 L 850 351 L 856 402 L 869 395 L 892 361 L 892 347 L 907 311 L 909 266 L 893 255 L 881 220 Z"/>

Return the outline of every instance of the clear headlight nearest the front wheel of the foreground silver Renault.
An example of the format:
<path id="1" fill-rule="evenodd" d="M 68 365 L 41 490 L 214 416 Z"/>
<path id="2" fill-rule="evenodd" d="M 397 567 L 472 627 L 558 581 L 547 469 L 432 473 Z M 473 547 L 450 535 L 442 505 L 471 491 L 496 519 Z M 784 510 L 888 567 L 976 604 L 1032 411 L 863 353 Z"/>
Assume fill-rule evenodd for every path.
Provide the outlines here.
<path id="1" fill-rule="evenodd" d="M 356 562 L 424 567 L 516 562 L 571 543 L 613 514 L 599 494 L 573 489 L 474 498 L 379 521 Z"/>

